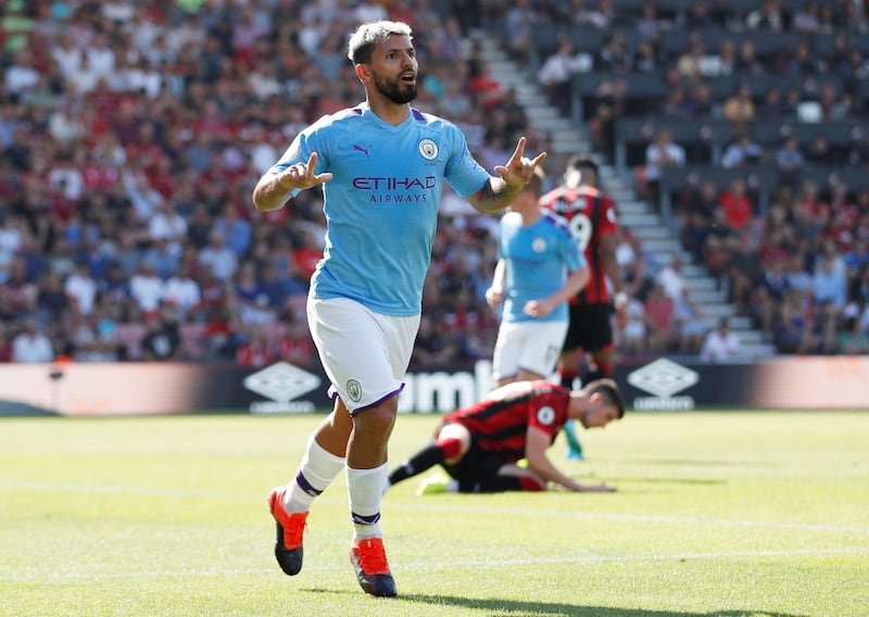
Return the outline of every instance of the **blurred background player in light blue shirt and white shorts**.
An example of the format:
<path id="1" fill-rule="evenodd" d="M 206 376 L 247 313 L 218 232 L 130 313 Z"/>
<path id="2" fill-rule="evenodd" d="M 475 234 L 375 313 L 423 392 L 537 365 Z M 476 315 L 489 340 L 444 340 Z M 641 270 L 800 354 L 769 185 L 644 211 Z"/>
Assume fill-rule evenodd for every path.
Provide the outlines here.
<path id="1" fill-rule="evenodd" d="M 567 222 L 538 205 L 543 180 L 536 169 L 499 224 L 499 260 L 486 291 L 493 308 L 504 302 L 492 358 L 495 387 L 552 376 L 567 333 L 567 301 L 589 281 Z"/>

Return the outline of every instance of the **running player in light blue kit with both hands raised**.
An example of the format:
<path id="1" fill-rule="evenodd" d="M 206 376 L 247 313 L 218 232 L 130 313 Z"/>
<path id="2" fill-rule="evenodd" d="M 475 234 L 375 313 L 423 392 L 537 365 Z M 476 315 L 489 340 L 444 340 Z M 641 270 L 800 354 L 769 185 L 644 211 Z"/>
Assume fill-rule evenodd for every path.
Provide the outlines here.
<path id="1" fill-rule="evenodd" d="M 365 592 L 396 594 L 380 528 L 387 446 L 411 358 L 443 181 L 482 213 L 509 205 L 545 152 L 490 175 L 455 125 L 411 108 L 418 63 L 411 28 L 361 25 L 348 56 L 366 100 L 302 130 L 253 191 L 260 211 L 322 186 L 326 248 L 311 281 L 307 319 L 331 381 L 335 410 L 314 431 L 295 474 L 268 496 L 281 569 L 302 568 L 313 500 L 345 469 L 354 525 L 350 559 Z"/>

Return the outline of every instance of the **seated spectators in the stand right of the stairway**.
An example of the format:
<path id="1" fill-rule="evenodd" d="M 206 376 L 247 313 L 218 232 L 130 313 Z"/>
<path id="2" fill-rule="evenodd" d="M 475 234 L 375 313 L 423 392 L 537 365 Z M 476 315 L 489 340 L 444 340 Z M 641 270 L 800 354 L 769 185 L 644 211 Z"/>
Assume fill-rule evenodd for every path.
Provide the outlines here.
<path id="1" fill-rule="evenodd" d="M 505 40 L 522 41 L 514 54 L 540 59 L 539 81 L 563 108 L 565 92 L 581 96 L 577 83 L 596 84 L 581 121 L 609 158 L 626 139 L 619 123 L 641 121 L 627 138 L 641 142 L 626 162 L 637 188 L 663 214 L 672 200 L 683 249 L 735 314 L 781 353 L 869 353 L 869 5 L 602 0 L 555 15 L 530 5 L 521 27 L 507 20 Z M 533 36 L 549 23 L 568 25 L 547 30 L 557 40 Z M 605 33 L 597 48 L 584 42 L 595 29 Z M 731 90 L 714 95 L 721 85 Z M 668 169 L 691 172 L 673 194 Z M 634 287 L 634 318 L 645 314 L 648 331 L 622 343 L 698 351 L 702 339 L 687 336 L 697 312 L 680 315 L 678 294 L 663 308 L 656 301 L 652 281 L 666 287 L 671 273 L 652 255 L 634 261 L 642 250 L 626 243 L 626 277 L 650 279 Z"/>

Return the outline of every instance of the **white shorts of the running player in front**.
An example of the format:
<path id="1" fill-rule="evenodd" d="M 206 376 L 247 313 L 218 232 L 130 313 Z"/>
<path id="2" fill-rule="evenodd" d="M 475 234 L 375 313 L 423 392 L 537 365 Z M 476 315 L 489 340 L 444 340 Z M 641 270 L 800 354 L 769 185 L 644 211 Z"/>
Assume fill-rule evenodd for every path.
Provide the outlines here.
<path id="1" fill-rule="evenodd" d="M 307 326 L 331 381 L 351 415 L 404 389 L 419 315 L 375 313 L 347 298 L 307 300 Z"/>

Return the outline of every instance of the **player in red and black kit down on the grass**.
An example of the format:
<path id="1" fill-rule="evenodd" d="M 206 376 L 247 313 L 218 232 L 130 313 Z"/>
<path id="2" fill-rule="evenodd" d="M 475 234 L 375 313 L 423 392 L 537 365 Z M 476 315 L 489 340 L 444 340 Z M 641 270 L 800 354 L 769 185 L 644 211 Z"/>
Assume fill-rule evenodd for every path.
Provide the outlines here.
<path id="1" fill-rule="evenodd" d="M 545 380 L 508 383 L 445 415 L 433 441 L 396 467 L 383 491 L 440 465 L 451 479 L 430 478 L 417 494 L 545 491 L 550 483 L 569 491 L 613 492 L 606 484 L 581 484 L 564 475 L 546 457 L 546 449 L 570 419 L 603 428 L 624 415 L 625 402 L 612 379 L 572 391 Z"/>

